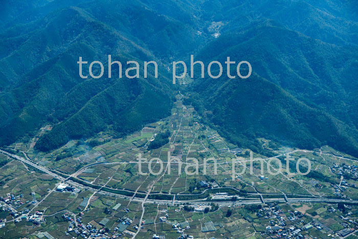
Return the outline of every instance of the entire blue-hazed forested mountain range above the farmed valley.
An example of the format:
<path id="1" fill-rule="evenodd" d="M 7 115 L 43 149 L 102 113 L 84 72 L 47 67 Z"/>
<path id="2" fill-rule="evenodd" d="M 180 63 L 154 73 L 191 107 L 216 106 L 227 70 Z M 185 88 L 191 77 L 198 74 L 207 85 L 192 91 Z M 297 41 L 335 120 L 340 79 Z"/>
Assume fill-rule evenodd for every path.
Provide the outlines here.
<path id="1" fill-rule="evenodd" d="M 256 138 L 265 137 L 358 156 L 355 1 L 23 2 L 7 1 L 0 14 L 2 145 L 47 122 L 54 128 L 40 150 L 165 117 L 178 89 L 167 67 L 194 54 L 206 64 L 230 56 L 252 65 L 249 79 L 224 72 L 181 89 L 239 146 L 260 150 Z M 108 54 L 156 60 L 159 78 L 78 76 L 79 56 L 105 62 Z"/>

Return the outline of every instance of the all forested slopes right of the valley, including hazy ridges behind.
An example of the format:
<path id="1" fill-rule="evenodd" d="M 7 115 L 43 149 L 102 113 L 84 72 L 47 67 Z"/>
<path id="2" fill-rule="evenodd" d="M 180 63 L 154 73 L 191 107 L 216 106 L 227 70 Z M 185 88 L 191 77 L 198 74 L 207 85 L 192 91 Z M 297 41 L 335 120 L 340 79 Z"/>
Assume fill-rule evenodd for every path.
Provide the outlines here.
<path id="1" fill-rule="evenodd" d="M 264 136 L 304 148 L 329 144 L 356 155 L 358 25 L 352 3 L 240 1 L 232 8 L 218 2 L 223 10 L 213 11 L 220 14 L 216 20 L 227 22 L 196 58 L 245 59 L 255 75 L 229 80 L 224 68 L 218 80 L 195 81 L 194 102 L 209 122 L 257 150 L 256 138 Z"/>

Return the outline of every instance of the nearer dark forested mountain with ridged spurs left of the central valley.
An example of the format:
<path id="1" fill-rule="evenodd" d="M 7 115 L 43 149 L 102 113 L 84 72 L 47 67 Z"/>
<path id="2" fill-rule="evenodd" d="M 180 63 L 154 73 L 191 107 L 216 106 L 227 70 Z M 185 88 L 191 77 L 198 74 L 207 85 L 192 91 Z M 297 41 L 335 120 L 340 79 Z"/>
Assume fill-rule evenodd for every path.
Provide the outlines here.
<path id="1" fill-rule="evenodd" d="M 113 71 L 117 77 L 111 79 L 84 81 L 78 75 L 79 56 L 89 62 L 106 62 L 111 54 L 112 60 L 120 60 L 123 66 L 127 60 L 158 59 L 129 39 L 135 37 L 77 7 L 58 10 L 30 25 L 37 25 L 36 30 L 25 31 L 24 42 L 14 45 L 13 51 L 0 60 L 4 76 L 0 96 L 3 144 L 31 134 L 47 120 L 60 123 L 39 141 L 38 147 L 46 150 L 69 138 L 89 136 L 109 124 L 119 133 L 128 133 L 170 113 L 171 85 L 163 66 L 160 80 L 152 76 L 144 79 L 143 72 L 140 79 L 118 79 L 118 70 Z M 16 37 L 4 42 L 11 44 Z"/>

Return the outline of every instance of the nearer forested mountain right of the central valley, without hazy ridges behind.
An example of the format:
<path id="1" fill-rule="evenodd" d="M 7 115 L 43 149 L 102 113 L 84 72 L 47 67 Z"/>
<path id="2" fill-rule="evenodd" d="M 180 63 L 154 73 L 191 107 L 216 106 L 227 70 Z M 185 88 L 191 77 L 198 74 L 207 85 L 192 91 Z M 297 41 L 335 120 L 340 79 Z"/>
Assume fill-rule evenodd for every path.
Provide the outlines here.
<path id="1" fill-rule="evenodd" d="M 212 111 L 213 123 L 238 142 L 247 140 L 237 137 L 243 132 L 251 139 L 280 135 L 305 148 L 328 143 L 348 150 L 350 142 L 349 150 L 356 153 L 358 85 L 352 72 L 358 70 L 357 50 L 266 22 L 245 32 L 223 34 L 197 56 L 208 62 L 223 62 L 227 56 L 247 59 L 256 76 L 228 80 L 224 73 L 218 80 L 198 79 L 193 91 L 199 93 L 199 104 Z"/>

